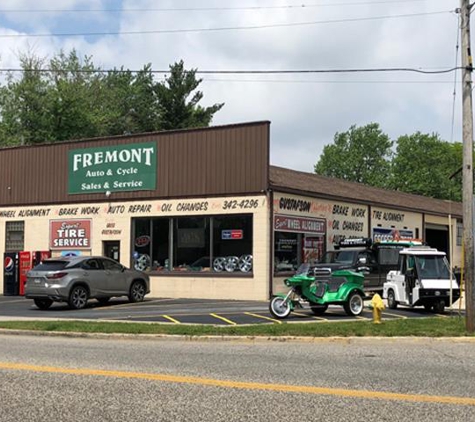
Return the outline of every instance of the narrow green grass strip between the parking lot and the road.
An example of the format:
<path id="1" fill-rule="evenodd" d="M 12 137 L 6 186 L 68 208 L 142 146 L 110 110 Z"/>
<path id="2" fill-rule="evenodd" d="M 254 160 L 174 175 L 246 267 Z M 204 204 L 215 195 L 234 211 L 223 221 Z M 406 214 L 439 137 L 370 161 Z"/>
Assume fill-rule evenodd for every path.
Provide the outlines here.
<path id="1" fill-rule="evenodd" d="M 0 321 L 0 328 L 48 332 L 169 334 L 185 336 L 303 336 L 303 337 L 461 337 L 465 318 L 417 318 L 384 321 L 260 324 L 253 326 L 165 325 L 89 321 Z"/>

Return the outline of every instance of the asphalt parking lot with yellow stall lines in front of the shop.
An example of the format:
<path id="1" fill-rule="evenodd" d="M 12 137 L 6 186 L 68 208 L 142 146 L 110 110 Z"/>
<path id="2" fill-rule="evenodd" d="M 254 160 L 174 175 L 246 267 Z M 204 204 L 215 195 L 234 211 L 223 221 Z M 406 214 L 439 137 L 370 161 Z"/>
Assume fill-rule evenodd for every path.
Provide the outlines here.
<path id="1" fill-rule="evenodd" d="M 369 305 L 369 302 L 366 302 Z M 96 300 L 89 301 L 81 310 L 71 310 L 65 303 L 55 303 L 42 311 L 32 300 L 18 296 L 0 296 L 0 319 L 93 319 L 103 321 L 158 322 L 164 324 L 281 324 L 269 313 L 268 301 L 231 301 L 204 299 L 166 299 L 147 298 L 142 303 L 129 303 L 126 298 L 114 298 L 106 305 Z M 458 315 L 454 309 L 452 315 Z M 383 319 L 419 318 L 434 316 L 424 308 L 383 311 Z M 442 316 L 450 316 L 449 310 Z M 372 310 L 365 308 L 358 317 L 346 315 L 341 306 L 330 306 L 322 316 L 315 316 L 309 308 L 292 312 L 285 323 L 351 321 L 355 319 L 372 320 Z"/>

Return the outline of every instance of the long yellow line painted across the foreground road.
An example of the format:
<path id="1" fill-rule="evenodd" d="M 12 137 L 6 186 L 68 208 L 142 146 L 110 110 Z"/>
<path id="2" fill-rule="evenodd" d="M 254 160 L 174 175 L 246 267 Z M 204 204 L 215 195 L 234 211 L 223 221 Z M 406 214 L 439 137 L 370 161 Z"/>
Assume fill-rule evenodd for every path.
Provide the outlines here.
<path id="1" fill-rule="evenodd" d="M 28 365 L 23 363 L 0 362 L 0 369 L 30 371 L 42 373 L 88 375 L 110 378 L 141 379 L 148 381 L 171 382 L 177 384 L 194 384 L 208 387 L 235 388 L 243 390 L 277 391 L 288 393 L 315 394 L 339 397 L 354 397 L 360 399 L 379 399 L 406 401 L 416 403 L 438 403 L 450 405 L 475 406 L 475 398 L 455 396 L 432 396 L 425 394 L 403 394 L 384 391 L 350 390 L 344 388 L 312 387 L 306 385 L 264 384 L 259 382 L 240 382 L 218 380 L 213 378 L 187 377 L 178 375 L 150 374 L 145 372 L 108 371 L 100 369 L 72 369 L 53 366 Z"/>

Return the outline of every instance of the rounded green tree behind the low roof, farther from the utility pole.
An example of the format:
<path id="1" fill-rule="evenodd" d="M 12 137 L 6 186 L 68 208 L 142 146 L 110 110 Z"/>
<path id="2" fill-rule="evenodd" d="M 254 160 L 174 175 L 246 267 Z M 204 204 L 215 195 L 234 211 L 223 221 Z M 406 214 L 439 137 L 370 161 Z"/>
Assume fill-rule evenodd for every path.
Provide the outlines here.
<path id="1" fill-rule="evenodd" d="M 392 146 L 377 123 L 351 126 L 336 133 L 333 144 L 325 145 L 315 173 L 385 188 L 391 179 Z"/>

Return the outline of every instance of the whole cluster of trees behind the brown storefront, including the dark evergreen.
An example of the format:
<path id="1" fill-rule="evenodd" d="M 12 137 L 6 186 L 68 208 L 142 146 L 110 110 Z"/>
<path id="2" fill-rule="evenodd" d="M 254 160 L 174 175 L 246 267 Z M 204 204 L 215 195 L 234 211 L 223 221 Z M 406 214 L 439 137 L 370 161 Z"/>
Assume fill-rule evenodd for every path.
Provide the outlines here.
<path id="1" fill-rule="evenodd" d="M 183 61 L 165 82 L 154 80 L 151 65 L 105 72 L 75 50 L 20 62 L 21 76 L 0 86 L 0 146 L 204 127 L 223 106 L 199 105 L 201 80 Z"/>

